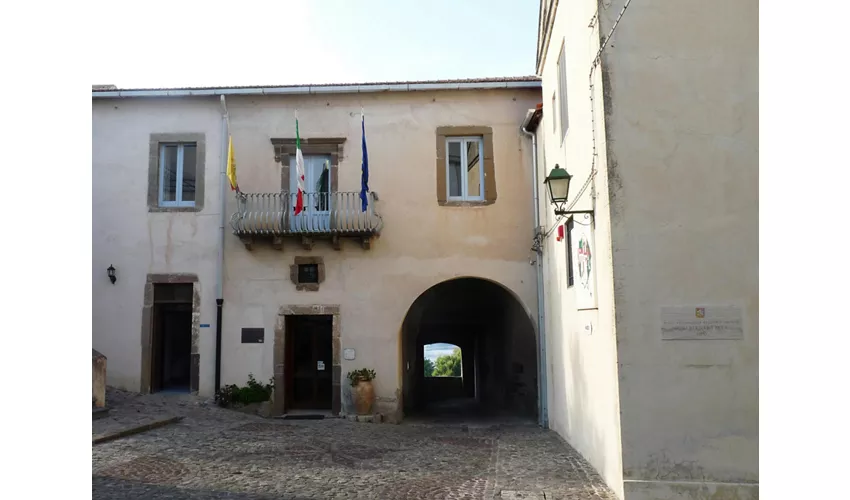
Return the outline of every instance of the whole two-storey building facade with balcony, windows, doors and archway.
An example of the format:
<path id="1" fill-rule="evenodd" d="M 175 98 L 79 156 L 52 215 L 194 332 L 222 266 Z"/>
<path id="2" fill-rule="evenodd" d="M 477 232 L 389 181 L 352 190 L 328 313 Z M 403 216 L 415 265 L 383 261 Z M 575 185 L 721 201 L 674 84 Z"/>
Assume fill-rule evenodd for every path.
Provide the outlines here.
<path id="1" fill-rule="evenodd" d="M 344 414 L 346 373 L 372 368 L 376 411 L 401 418 L 428 406 L 427 337 L 463 344 L 475 404 L 536 415 L 531 154 L 519 124 L 539 101 L 534 77 L 93 90 L 93 345 L 109 383 L 212 396 L 217 380 L 253 376 L 274 380 L 277 413 Z M 223 175 L 226 134 L 239 193 Z M 435 286 L 439 296 L 426 293 Z"/>

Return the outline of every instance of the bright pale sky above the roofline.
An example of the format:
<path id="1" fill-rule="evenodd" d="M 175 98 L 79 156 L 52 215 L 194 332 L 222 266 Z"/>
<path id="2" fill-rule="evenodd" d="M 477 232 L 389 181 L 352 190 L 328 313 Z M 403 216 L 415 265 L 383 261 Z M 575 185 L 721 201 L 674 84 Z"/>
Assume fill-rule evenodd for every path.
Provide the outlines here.
<path id="1" fill-rule="evenodd" d="M 533 75 L 538 1 L 115 2 L 91 14 L 99 39 L 91 83 L 144 88 Z"/>

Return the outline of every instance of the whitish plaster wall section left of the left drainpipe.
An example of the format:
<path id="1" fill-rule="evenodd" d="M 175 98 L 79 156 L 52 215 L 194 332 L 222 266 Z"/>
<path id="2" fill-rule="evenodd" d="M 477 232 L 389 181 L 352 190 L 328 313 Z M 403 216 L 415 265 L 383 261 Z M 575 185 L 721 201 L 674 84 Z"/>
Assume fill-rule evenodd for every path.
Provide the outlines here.
<path id="1" fill-rule="evenodd" d="M 108 358 L 110 385 L 140 388 L 147 274 L 195 273 L 200 322 L 210 324 L 200 332 L 199 390 L 213 393 L 220 116 L 210 98 L 92 100 L 92 347 Z M 206 136 L 204 208 L 149 213 L 150 134 L 180 132 Z"/>

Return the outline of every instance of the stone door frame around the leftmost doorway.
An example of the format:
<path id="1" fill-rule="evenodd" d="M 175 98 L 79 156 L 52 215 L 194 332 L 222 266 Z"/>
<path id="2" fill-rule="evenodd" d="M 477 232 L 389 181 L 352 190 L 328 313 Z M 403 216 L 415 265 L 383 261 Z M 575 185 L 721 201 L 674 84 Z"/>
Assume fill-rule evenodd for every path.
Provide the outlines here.
<path id="1" fill-rule="evenodd" d="M 151 392 L 151 360 L 153 358 L 153 289 L 154 285 L 167 285 L 174 283 L 192 284 L 192 354 L 189 369 L 189 392 L 198 394 L 200 383 L 200 338 L 201 338 L 201 286 L 197 274 L 172 273 L 172 274 L 148 274 L 145 280 L 145 300 L 142 306 L 142 383 L 139 392 L 150 394 Z"/>

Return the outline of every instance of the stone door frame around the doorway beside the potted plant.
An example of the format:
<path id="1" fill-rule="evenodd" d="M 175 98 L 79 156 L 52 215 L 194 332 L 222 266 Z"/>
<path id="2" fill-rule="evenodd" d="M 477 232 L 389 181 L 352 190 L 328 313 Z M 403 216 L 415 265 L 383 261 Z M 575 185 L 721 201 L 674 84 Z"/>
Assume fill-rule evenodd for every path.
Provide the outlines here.
<path id="1" fill-rule="evenodd" d="M 340 315 L 337 304 L 283 305 L 277 313 L 274 327 L 274 400 L 272 414 L 283 415 L 286 401 L 284 383 L 286 360 L 286 317 L 287 316 L 331 316 L 331 347 L 333 349 L 333 367 L 331 368 L 331 413 L 338 416 L 342 406 L 342 358 L 340 343 Z"/>

